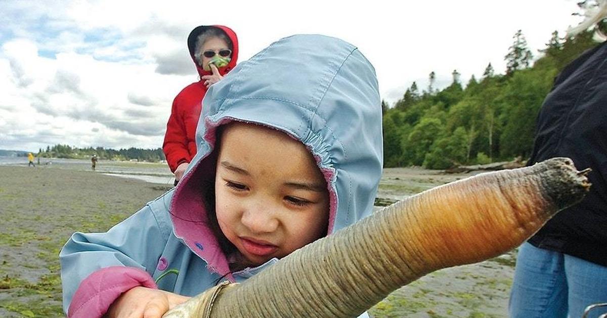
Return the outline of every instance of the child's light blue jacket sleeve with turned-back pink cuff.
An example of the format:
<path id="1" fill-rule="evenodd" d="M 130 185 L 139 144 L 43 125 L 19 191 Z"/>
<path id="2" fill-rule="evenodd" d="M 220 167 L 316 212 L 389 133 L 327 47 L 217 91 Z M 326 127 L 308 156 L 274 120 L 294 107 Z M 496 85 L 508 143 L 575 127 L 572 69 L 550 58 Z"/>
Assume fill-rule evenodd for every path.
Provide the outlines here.
<path id="1" fill-rule="evenodd" d="M 156 288 L 151 275 L 167 232 L 146 206 L 106 233 L 74 233 L 59 253 L 68 317 L 101 317 L 123 292 Z"/>

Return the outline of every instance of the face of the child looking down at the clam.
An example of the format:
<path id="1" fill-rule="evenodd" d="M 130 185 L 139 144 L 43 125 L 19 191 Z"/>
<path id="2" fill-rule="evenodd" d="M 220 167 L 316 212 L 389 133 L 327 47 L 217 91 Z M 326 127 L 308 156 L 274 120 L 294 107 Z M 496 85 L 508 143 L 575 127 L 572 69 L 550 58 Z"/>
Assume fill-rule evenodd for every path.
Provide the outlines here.
<path id="1" fill-rule="evenodd" d="M 233 123 L 220 144 L 215 212 L 247 266 L 285 257 L 325 235 L 327 184 L 302 143 L 270 128 Z"/>

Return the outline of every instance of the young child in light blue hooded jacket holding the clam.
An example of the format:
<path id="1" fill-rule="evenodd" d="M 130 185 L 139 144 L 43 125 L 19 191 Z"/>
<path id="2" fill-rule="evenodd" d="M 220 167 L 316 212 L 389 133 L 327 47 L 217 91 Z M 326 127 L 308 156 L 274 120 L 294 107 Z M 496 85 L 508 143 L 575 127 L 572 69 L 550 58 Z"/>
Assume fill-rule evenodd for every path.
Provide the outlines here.
<path id="1" fill-rule="evenodd" d="M 198 152 L 177 187 L 64 246 L 69 317 L 160 317 L 371 212 L 381 102 L 356 47 L 282 39 L 212 85 L 203 104 Z"/>

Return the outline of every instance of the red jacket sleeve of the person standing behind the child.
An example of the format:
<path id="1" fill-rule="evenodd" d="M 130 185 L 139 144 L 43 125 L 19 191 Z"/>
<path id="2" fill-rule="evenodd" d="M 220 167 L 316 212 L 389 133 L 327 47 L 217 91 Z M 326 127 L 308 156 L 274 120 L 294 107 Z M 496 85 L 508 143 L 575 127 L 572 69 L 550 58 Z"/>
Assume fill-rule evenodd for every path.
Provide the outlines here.
<path id="1" fill-rule="evenodd" d="M 183 122 L 183 115 L 180 112 L 180 105 L 183 103 L 183 98 L 180 92 L 171 107 L 171 116 L 169 121 L 166 123 L 166 133 L 164 133 L 164 143 L 162 150 L 166 157 L 166 162 L 171 168 L 171 172 L 175 172 L 177 166 L 183 162 L 188 162 L 188 138 L 186 136 L 185 123 Z"/>

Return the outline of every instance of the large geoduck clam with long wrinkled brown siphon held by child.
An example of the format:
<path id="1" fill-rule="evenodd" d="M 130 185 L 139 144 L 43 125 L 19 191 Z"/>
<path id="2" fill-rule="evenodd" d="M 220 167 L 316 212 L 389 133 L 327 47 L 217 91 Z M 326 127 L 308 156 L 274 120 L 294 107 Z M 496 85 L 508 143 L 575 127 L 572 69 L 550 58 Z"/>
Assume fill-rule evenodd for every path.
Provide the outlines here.
<path id="1" fill-rule="evenodd" d="M 164 317 L 356 317 L 429 272 L 520 245 L 583 198 L 587 172 L 554 158 L 427 190 Z"/>

